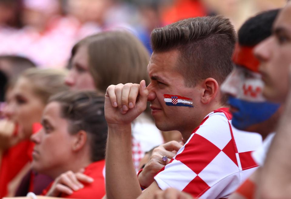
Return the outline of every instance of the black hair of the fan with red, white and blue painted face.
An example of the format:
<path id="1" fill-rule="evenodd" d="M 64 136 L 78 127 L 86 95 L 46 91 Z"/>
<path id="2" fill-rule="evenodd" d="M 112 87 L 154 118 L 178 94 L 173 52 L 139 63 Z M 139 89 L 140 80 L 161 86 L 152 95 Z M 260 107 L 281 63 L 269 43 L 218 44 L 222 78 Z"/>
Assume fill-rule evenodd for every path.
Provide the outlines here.
<path id="1" fill-rule="evenodd" d="M 271 36 L 272 26 L 279 11 L 280 9 L 269 10 L 249 18 L 239 29 L 239 44 L 254 46 Z"/>

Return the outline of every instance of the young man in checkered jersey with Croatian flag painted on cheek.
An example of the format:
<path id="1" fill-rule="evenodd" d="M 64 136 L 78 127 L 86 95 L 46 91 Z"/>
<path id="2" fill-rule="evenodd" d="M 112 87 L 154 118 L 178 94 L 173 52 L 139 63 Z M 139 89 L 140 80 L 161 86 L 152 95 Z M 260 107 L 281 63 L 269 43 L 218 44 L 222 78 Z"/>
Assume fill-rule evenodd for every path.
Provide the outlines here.
<path id="1" fill-rule="evenodd" d="M 232 70 L 234 29 L 220 16 L 190 18 L 157 28 L 151 37 L 151 83 L 111 85 L 105 95 L 107 197 L 153 198 L 169 187 L 193 197 L 228 197 L 256 169 L 250 153 L 261 144 L 260 135 L 233 129 L 223 108 L 219 85 Z M 130 123 L 147 101 L 156 126 L 180 131 L 187 142 L 142 193 L 132 165 Z"/>

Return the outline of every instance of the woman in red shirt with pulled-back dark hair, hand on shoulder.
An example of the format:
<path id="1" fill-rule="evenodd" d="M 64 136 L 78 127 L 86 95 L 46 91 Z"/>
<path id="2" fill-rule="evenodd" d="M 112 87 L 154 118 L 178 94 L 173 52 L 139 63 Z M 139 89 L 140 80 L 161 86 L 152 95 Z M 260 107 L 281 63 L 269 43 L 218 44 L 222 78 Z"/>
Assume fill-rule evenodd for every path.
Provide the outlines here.
<path id="1" fill-rule="evenodd" d="M 45 107 L 42 126 L 31 137 L 35 143 L 32 169 L 55 179 L 43 194 L 102 198 L 107 139 L 104 97 L 93 91 L 59 93 Z"/>

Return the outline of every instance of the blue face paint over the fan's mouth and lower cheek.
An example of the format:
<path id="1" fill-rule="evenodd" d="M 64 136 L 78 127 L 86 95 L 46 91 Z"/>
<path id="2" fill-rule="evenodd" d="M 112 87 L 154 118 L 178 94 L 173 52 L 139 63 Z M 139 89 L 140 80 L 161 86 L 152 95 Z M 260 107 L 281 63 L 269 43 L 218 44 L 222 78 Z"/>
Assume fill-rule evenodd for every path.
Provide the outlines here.
<path id="1" fill-rule="evenodd" d="M 232 113 L 232 125 L 240 130 L 268 120 L 279 108 L 270 102 L 249 102 L 229 96 L 229 105 L 238 109 Z"/>

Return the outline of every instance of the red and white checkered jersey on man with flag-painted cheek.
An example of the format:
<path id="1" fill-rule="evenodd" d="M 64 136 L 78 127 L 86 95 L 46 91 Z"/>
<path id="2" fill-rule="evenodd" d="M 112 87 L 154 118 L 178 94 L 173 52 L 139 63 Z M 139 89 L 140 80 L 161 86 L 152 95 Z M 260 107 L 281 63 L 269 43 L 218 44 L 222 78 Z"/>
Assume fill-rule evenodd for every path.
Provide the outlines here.
<path id="1" fill-rule="evenodd" d="M 209 113 L 155 180 L 200 198 L 227 198 L 258 166 L 251 152 L 262 145 L 257 133 L 231 125 L 227 108 Z"/>

